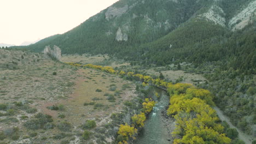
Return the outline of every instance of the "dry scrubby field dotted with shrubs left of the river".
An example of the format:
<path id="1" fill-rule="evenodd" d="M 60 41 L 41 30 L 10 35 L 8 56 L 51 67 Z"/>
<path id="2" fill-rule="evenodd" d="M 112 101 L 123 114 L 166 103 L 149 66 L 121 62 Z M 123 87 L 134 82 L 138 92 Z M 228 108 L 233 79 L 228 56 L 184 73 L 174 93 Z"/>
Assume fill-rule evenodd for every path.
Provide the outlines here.
<path id="1" fill-rule="evenodd" d="M 134 97 L 135 85 L 116 75 L 0 50 L 0 143 L 110 142 L 105 125 Z"/>

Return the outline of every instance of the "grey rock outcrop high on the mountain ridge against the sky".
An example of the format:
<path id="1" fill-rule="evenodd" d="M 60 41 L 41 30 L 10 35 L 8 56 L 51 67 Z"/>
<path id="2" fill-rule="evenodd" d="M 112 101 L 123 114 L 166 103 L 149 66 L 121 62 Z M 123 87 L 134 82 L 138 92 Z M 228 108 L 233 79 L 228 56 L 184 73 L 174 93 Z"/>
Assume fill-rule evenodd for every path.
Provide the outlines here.
<path id="1" fill-rule="evenodd" d="M 110 20 L 114 17 L 119 17 L 123 15 L 128 10 L 128 5 L 125 5 L 123 8 L 109 7 L 105 13 L 106 20 Z"/>

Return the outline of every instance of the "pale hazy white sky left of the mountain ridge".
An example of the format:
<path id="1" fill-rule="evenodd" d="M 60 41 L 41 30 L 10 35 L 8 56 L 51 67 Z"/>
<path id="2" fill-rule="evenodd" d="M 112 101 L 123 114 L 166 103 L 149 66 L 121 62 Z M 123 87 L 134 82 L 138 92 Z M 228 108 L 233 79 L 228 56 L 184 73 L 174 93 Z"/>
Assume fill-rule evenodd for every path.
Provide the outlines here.
<path id="1" fill-rule="evenodd" d="M 62 34 L 118 0 L 0 0 L 0 43 Z"/>

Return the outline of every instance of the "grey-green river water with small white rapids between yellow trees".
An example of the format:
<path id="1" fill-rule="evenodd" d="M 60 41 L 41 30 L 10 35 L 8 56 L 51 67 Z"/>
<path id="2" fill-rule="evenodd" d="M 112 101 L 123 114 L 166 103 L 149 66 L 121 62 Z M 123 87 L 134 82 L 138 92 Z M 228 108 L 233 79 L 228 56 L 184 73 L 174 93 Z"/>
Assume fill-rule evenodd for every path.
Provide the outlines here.
<path id="1" fill-rule="evenodd" d="M 165 111 L 165 107 L 169 104 L 169 97 L 167 93 L 161 89 L 155 88 L 154 90 L 158 92 L 159 95 L 161 94 L 161 97 L 159 99 L 153 97 L 155 101 L 158 101 L 158 104 L 155 105 L 153 111 L 149 114 L 144 128 L 139 131 L 137 140 L 133 142 L 135 144 L 171 143 L 171 135 L 168 134 L 161 116 L 161 112 Z"/>

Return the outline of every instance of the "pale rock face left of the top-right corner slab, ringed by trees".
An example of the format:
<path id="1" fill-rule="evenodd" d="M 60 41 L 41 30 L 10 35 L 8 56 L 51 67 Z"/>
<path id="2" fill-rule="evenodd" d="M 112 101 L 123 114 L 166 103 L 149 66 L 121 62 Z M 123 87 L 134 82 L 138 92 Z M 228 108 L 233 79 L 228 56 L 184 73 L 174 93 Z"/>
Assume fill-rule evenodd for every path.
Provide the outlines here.
<path id="1" fill-rule="evenodd" d="M 207 20 L 213 21 L 214 23 L 225 27 L 226 19 L 221 15 L 225 15 L 222 8 L 217 5 L 212 5 L 207 13 L 202 14 L 203 17 L 206 17 Z"/>

